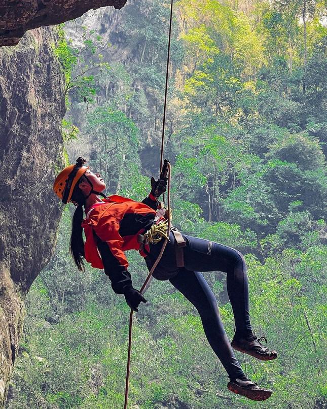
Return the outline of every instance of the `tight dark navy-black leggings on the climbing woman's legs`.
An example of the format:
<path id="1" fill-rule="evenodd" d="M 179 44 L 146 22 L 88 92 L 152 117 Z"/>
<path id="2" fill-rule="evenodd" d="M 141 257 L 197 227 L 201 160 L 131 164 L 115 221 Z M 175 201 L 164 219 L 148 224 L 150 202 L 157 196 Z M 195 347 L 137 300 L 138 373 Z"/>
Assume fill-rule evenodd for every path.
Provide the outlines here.
<path id="1" fill-rule="evenodd" d="M 199 271 L 219 270 L 227 273 L 227 291 L 234 313 L 236 334 L 246 336 L 252 333 L 252 328 L 244 257 L 237 250 L 222 244 L 185 234 L 183 237 L 187 242 L 184 249 L 185 267 L 176 266 L 174 237 L 170 234 L 170 243 L 167 244 L 154 277 L 158 280 L 169 280 L 195 306 L 208 342 L 229 377 L 243 377 L 244 373 L 223 327 L 216 298 Z M 150 246 L 150 256 L 146 258 L 149 270 L 160 252 L 161 242 Z"/>

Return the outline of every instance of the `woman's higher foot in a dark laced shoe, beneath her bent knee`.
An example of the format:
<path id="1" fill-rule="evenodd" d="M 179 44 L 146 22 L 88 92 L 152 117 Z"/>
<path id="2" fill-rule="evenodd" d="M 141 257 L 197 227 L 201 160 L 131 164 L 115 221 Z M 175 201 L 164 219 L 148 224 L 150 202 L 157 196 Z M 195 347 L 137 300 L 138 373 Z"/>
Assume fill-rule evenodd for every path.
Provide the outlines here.
<path id="1" fill-rule="evenodd" d="M 260 342 L 261 340 L 265 340 L 267 342 L 267 338 L 265 336 L 258 339 L 258 337 L 253 334 L 247 338 L 239 338 L 235 334 L 231 345 L 232 348 L 236 349 L 237 351 L 254 356 L 262 361 L 271 361 L 272 359 L 276 359 L 277 352 L 273 350 L 270 351 L 267 347 L 264 347 Z"/>

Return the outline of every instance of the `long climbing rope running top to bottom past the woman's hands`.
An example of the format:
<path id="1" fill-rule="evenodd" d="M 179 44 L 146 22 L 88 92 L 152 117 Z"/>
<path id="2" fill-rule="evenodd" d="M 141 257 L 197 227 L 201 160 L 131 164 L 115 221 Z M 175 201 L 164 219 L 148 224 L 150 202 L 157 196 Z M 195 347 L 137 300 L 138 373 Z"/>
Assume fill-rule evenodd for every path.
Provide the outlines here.
<path id="1" fill-rule="evenodd" d="M 166 123 L 166 108 L 167 108 L 167 90 L 168 90 L 168 74 L 169 74 L 169 57 L 170 57 L 170 40 L 171 40 L 171 26 L 172 26 L 172 7 L 173 7 L 173 0 L 171 0 L 170 4 L 170 20 L 169 20 L 169 36 L 168 36 L 168 52 L 167 52 L 167 66 L 166 66 L 166 85 L 165 85 L 165 99 L 164 99 L 164 112 L 163 112 L 163 124 L 162 124 L 162 137 L 161 137 L 161 153 L 160 153 L 160 167 L 159 167 L 159 174 L 162 169 L 163 164 L 163 154 L 164 154 L 164 142 L 165 142 L 165 123 Z M 163 252 L 167 246 L 169 241 L 169 234 L 170 234 L 170 220 L 171 220 L 171 211 L 170 211 L 170 177 L 171 177 L 171 166 L 168 162 L 168 194 L 167 194 L 167 230 L 165 231 L 166 237 L 164 244 L 162 245 L 161 251 L 155 261 L 154 265 L 152 266 L 146 281 L 144 281 L 140 292 L 144 294 L 147 291 L 150 285 L 150 281 L 152 279 L 152 274 L 156 269 Z M 132 350 L 132 327 L 133 327 L 133 310 L 131 310 L 129 316 L 129 334 L 128 334 L 128 355 L 127 355 L 127 369 L 126 369 L 126 385 L 125 385 L 125 403 L 124 409 L 127 409 L 128 404 L 128 391 L 129 391 L 129 374 L 130 374 L 130 363 L 131 363 L 131 350 Z"/>

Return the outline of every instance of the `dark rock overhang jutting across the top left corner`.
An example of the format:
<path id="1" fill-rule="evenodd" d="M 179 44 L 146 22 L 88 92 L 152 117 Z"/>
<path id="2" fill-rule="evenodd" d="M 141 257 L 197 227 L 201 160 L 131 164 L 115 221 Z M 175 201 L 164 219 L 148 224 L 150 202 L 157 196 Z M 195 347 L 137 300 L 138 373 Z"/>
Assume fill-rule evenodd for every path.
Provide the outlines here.
<path id="1" fill-rule="evenodd" d="M 0 46 L 18 44 L 24 32 L 82 16 L 90 9 L 114 6 L 126 0 L 0 0 Z"/>

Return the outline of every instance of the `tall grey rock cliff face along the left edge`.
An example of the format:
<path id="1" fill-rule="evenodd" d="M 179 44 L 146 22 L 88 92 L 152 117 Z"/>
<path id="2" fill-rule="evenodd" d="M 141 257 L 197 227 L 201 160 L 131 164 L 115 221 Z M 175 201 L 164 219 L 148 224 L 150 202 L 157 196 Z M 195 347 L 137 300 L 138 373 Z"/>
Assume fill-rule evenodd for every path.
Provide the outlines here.
<path id="1" fill-rule="evenodd" d="M 24 297 L 49 261 L 61 209 L 64 76 L 52 29 L 0 49 L 0 407 L 18 351 Z"/>

